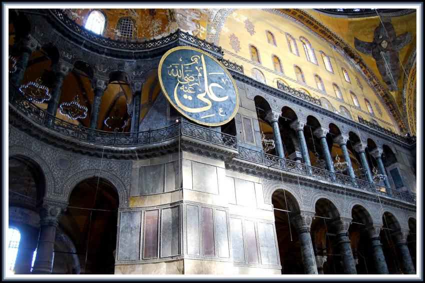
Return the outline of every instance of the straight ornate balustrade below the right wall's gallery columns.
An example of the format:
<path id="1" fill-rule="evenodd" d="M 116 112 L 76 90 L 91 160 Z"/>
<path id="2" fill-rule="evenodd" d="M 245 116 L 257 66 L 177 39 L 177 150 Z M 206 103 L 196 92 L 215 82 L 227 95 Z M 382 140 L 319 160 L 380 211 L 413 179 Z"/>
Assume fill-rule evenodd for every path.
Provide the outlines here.
<path id="1" fill-rule="evenodd" d="M 380 189 L 377 189 L 377 186 L 380 185 L 376 185 L 375 183 L 371 183 L 358 178 L 352 178 L 348 175 L 344 175 L 341 173 L 330 172 L 323 168 L 308 166 L 303 163 L 299 163 L 286 158 L 281 158 L 279 156 L 271 155 L 262 151 L 256 151 L 239 146 L 239 154 L 237 155 L 237 158 L 251 161 L 254 163 L 259 163 L 267 167 L 272 167 L 274 169 L 280 169 L 286 172 L 296 173 L 300 175 L 307 175 L 323 181 L 329 181 L 355 188 L 360 188 L 369 192 L 401 199 L 406 202 L 416 203 L 415 195 L 387 187 L 384 187 L 384 190 L 382 191 Z"/>

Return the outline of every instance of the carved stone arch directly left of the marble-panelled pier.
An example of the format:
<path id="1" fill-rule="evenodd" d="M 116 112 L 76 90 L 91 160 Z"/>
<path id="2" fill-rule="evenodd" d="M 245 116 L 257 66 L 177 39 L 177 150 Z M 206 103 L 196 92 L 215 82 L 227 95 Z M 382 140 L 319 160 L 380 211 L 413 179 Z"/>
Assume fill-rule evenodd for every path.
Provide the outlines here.
<path id="1" fill-rule="evenodd" d="M 69 176 L 67 180 L 63 183 L 63 187 L 65 189 L 64 195 L 65 195 L 66 203 L 69 202 L 69 196 L 72 192 L 72 189 L 79 182 L 88 178 L 92 178 L 93 176 L 103 178 L 109 181 L 113 185 L 116 192 L 118 193 L 118 198 L 119 198 L 118 201 L 119 201 L 120 208 L 128 206 L 128 192 L 125 188 L 124 181 L 118 176 L 116 176 L 115 174 L 111 173 L 110 171 L 103 170 L 103 169 L 81 170 Z"/>

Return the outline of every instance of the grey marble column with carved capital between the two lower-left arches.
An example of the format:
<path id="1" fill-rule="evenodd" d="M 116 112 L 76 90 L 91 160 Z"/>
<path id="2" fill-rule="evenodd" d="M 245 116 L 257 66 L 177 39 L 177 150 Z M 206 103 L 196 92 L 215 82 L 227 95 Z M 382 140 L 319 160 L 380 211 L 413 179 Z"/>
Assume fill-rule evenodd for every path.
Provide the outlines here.
<path id="1" fill-rule="evenodd" d="M 39 207 L 40 234 L 32 274 L 50 274 L 53 266 L 53 248 L 56 227 L 66 204 L 48 202 Z"/>

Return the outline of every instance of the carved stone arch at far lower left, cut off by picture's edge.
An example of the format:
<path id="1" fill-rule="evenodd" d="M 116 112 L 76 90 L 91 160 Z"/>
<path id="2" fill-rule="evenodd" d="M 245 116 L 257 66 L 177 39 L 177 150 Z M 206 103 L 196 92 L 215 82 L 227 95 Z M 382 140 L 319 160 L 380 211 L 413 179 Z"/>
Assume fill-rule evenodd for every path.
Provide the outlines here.
<path id="1" fill-rule="evenodd" d="M 44 190 L 40 192 L 40 199 L 48 197 L 56 192 L 56 181 L 53 177 L 53 172 L 50 170 L 50 165 L 45 161 L 38 153 L 30 148 L 21 145 L 9 146 L 9 157 L 13 156 L 24 156 L 32 161 L 35 166 L 39 169 L 39 172 L 44 178 Z M 38 190 L 38 189 L 37 189 Z M 37 191 L 38 196 L 38 191 Z"/>

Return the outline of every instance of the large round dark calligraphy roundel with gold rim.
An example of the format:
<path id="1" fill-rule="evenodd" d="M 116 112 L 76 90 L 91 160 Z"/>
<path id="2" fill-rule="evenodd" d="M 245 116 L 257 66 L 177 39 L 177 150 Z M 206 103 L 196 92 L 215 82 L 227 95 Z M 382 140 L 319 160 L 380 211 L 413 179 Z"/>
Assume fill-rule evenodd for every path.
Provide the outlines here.
<path id="1" fill-rule="evenodd" d="M 159 83 L 174 108 L 199 124 L 219 126 L 230 121 L 239 94 L 230 73 L 202 50 L 179 46 L 159 61 Z"/>

